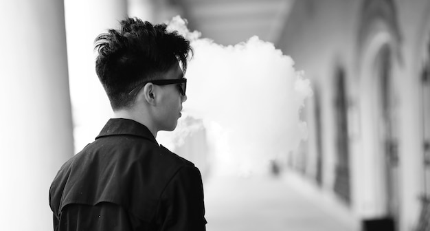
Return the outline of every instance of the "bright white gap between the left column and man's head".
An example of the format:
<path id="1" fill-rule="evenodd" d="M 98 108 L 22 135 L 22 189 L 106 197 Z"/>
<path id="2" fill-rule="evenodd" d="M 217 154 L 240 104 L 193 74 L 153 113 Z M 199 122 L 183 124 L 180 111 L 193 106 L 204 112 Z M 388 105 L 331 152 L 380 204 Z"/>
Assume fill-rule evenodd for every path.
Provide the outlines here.
<path id="1" fill-rule="evenodd" d="M 92 142 L 111 117 L 111 106 L 95 74 L 94 39 L 119 28 L 127 16 L 126 0 L 65 0 L 67 52 L 75 147 Z"/>

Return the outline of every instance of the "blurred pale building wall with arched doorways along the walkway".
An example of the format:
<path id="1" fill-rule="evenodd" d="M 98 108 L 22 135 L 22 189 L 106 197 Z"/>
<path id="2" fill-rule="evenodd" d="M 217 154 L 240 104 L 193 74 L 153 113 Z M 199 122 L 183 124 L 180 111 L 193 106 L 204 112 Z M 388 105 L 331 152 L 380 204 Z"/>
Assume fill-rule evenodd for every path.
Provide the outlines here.
<path id="1" fill-rule="evenodd" d="M 335 195 L 350 216 L 392 217 L 399 230 L 416 227 L 424 193 L 420 76 L 428 53 L 428 12 L 425 0 L 295 1 L 276 45 L 293 57 L 319 95 L 308 103 L 306 144 L 310 172 L 317 173 L 315 158 L 322 155 L 322 191 Z M 339 153 L 339 70 L 345 79 L 347 153 Z M 337 169 L 346 156 L 349 203 L 337 190 L 343 184 Z"/>

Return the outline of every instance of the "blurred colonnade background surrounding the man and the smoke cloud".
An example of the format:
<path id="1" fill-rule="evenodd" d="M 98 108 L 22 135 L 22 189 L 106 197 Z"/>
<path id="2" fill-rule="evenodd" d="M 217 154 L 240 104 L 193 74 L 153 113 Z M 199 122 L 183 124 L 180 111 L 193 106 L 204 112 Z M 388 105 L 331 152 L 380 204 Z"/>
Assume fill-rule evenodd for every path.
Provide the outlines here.
<path id="1" fill-rule="evenodd" d="M 313 87 L 308 139 L 263 173 L 217 175 L 205 129 L 174 149 L 201 169 L 207 230 L 429 230 L 430 1 L 1 0 L 4 230 L 52 229 L 52 179 L 111 115 L 95 36 L 176 15 L 221 45 L 273 43 Z"/>

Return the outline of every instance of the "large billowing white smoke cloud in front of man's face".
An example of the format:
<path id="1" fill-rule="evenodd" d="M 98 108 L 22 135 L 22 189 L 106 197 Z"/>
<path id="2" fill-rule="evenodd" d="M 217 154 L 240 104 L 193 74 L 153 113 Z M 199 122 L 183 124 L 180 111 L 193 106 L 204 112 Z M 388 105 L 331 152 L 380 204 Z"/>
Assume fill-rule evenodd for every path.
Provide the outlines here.
<path id="1" fill-rule="evenodd" d="M 194 50 L 183 114 L 203 119 L 226 166 L 254 171 L 306 138 L 299 111 L 312 89 L 290 56 L 257 36 L 229 46 L 201 39 L 181 17 L 174 17 L 168 30 L 190 39 Z M 173 136 L 190 130 L 182 124 Z"/>

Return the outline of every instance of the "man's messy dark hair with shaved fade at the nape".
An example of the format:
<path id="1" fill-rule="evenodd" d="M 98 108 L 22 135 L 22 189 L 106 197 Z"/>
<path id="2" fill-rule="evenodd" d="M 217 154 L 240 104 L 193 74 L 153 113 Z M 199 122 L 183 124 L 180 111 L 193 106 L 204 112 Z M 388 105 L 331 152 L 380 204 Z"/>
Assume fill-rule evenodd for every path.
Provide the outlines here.
<path id="1" fill-rule="evenodd" d="M 166 24 L 128 18 L 120 25 L 119 30 L 108 30 L 95 39 L 95 72 L 113 110 L 131 107 L 136 96 L 128 93 L 173 65 L 179 63 L 185 72 L 192 54 L 190 41 L 176 31 L 167 31 Z"/>

